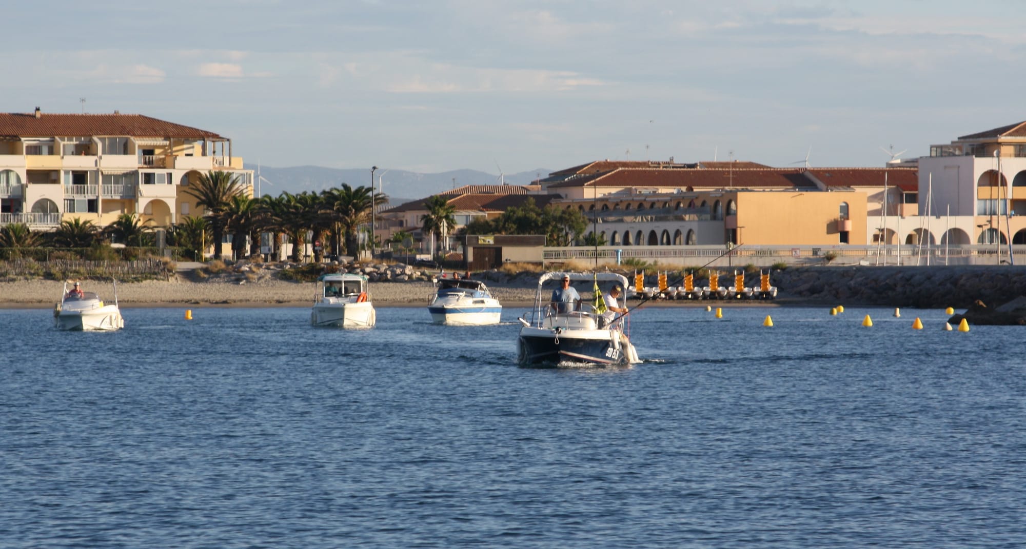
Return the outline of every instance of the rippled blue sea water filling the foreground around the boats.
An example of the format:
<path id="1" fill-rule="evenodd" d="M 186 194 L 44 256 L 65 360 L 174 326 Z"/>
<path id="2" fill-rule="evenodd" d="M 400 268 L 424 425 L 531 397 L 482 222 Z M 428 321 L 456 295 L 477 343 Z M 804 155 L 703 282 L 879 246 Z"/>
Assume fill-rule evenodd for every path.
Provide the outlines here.
<path id="1" fill-rule="evenodd" d="M 522 311 L 0 310 L 0 546 L 1026 545 L 1022 328 L 652 307 L 644 364 L 528 370 Z"/>

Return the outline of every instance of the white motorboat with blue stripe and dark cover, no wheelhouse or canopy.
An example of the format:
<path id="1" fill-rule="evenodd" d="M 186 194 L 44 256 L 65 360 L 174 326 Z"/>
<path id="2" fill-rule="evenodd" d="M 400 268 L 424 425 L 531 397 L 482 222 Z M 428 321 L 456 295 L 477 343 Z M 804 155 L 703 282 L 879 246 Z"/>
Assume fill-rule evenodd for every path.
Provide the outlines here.
<path id="1" fill-rule="evenodd" d="M 428 303 L 428 312 L 435 324 L 485 326 L 499 324 L 503 306 L 481 281 L 435 279 L 435 295 Z"/>

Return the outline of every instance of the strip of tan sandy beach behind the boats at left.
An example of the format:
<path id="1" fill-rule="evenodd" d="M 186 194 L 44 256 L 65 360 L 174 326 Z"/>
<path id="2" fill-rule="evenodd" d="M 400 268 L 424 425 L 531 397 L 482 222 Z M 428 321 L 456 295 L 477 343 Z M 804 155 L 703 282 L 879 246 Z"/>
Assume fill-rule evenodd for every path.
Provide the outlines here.
<path id="1" fill-rule="evenodd" d="M 316 283 L 262 280 L 238 284 L 228 281 L 184 282 L 171 280 L 122 283 L 117 286 L 118 304 L 125 307 L 159 306 L 308 306 L 313 303 Z M 52 307 L 60 301 L 60 281 L 27 280 L 0 282 L 0 307 Z M 496 288 L 492 294 L 508 306 L 527 306 L 534 288 Z M 84 281 L 83 290 L 96 292 L 107 301 L 114 298 L 109 282 Z M 434 287 L 428 282 L 371 283 L 370 297 L 382 306 L 427 305 Z"/>

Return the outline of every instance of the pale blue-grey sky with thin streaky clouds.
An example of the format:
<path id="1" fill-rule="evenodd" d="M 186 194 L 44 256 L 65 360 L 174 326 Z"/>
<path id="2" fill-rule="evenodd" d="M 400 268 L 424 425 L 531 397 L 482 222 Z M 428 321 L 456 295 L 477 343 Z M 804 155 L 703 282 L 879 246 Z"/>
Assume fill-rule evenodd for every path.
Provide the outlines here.
<path id="1" fill-rule="evenodd" d="M 882 166 L 1026 120 L 1024 23 L 1019 0 L 16 2 L 0 111 L 143 114 L 274 167 Z"/>

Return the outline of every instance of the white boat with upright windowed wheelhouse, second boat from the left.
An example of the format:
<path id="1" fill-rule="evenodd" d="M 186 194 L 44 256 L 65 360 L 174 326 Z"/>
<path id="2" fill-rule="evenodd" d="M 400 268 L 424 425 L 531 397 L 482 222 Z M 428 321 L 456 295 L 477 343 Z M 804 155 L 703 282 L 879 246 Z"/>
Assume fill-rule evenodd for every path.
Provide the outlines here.
<path id="1" fill-rule="evenodd" d="M 377 315 L 363 274 L 331 273 L 317 278 L 317 293 L 310 311 L 313 326 L 370 328 Z"/>

